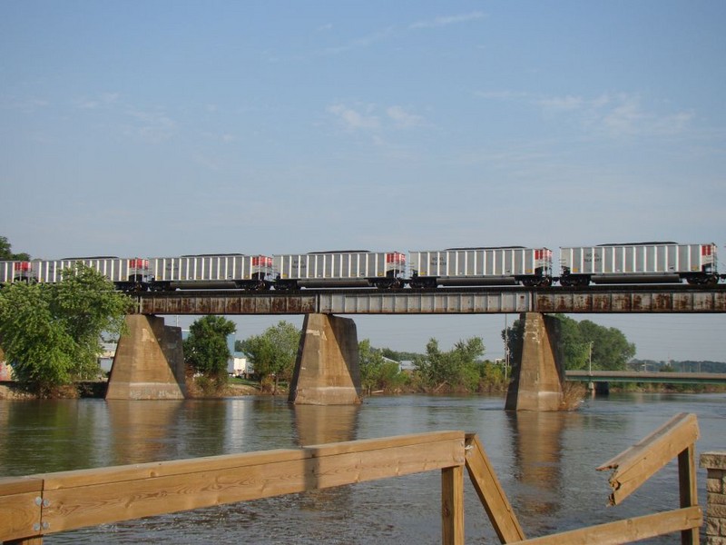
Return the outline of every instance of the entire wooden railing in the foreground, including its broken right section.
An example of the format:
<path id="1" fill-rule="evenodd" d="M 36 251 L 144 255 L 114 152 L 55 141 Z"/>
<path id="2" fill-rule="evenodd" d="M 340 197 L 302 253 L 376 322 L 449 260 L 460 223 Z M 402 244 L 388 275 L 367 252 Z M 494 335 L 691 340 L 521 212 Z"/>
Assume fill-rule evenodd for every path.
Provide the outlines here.
<path id="1" fill-rule="evenodd" d="M 476 435 L 438 431 L 0 479 L 0 541 L 39 544 L 43 536 L 87 526 L 281 494 L 441 471 L 442 542 L 464 543 L 464 468 L 503 543 L 624 543 L 682 531 L 697 543 L 695 417 L 681 415 L 601 469 L 615 468 L 613 503 L 679 457 L 682 509 L 525 540 L 515 512 Z M 604 538 L 607 538 L 605 540 Z"/>

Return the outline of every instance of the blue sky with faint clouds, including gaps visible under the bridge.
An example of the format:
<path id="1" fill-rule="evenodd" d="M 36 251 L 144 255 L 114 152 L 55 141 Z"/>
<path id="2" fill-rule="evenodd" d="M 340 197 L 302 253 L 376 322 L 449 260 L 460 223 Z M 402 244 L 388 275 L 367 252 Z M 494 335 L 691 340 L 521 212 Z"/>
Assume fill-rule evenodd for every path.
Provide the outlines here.
<path id="1" fill-rule="evenodd" d="M 39 258 L 714 242 L 724 272 L 725 24 L 722 0 L 5 0 L 0 235 Z M 591 318 L 638 357 L 726 361 L 721 315 Z M 357 323 L 497 357 L 504 320 Z"/>

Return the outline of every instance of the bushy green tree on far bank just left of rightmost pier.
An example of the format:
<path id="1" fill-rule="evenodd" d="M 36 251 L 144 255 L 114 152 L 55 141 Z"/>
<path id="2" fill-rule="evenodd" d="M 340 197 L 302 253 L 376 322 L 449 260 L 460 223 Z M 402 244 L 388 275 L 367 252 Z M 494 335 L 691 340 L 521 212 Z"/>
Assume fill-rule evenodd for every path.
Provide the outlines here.
<path id="1" fill-rule="evenodd" d="M 427 353 L 414 359 L 417 378 L 435 391 L 448 386 L 455 391 L 476 391 L 482 376 L 482 364 L 477 358 L 485 352 L 481 338 L 473 337 L 456 342 L 454 349 L 441 352 L 438 341 L 427 343 Z"/>

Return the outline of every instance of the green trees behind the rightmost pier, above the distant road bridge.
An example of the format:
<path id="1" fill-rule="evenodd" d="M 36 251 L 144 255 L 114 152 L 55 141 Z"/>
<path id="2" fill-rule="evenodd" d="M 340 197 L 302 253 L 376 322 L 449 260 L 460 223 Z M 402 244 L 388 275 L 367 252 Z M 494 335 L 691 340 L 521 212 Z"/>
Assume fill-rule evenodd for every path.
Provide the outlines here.
<path id="1" fill-rule="evenodd" d="M 566 370 L 584 370 L 591 365 L 597 371 L 618 371 L 626 369 L 635 355 L 635 345 L 628 342 L 620 330 L 603 327 L 589 320 L 577 322 L 563 314 L 555 314 L 559 320 L 559 347 Z M 502 332 L 502 338 L 509 342 L 513 361 L 519 362 L 525 323 L 517 320 L 511 328 Z"/>

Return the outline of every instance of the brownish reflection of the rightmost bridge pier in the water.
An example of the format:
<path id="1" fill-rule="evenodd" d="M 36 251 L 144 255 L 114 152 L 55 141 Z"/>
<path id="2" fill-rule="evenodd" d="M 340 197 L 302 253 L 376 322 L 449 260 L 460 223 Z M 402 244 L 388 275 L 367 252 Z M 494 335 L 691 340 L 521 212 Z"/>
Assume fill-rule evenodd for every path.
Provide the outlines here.
<path id="1" fill-rule="evenodd" d="M 537 520 L 554 517 L 563 500 L 564 414 L 507 411 L 507 421 L 513 441 L 515 480 L 525 485 L 515 511 Z"/>

